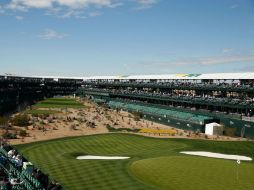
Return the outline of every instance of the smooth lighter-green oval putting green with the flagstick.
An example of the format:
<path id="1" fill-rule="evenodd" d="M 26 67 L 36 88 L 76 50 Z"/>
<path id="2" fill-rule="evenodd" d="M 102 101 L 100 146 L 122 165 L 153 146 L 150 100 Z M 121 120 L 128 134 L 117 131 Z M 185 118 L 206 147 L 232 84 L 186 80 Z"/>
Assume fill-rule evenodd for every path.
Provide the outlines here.
<path id="1" fill-rule="evenodd" d="M 160 189 L 253 189 L 254 165 L 223 159 L 172 156 L 144 159 L 131 165 L 134 175 Z"/>

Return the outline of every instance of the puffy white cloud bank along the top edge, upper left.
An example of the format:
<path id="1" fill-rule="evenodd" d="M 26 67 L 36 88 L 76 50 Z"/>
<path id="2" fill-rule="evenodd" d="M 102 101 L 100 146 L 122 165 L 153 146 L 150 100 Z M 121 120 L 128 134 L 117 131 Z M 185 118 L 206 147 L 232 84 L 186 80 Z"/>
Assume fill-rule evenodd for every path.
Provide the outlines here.
<path id="1" fill-rule="evenodd" d="M 137 9 L 147 9 L 158 1 L 159 0 L 9 0 L 0 5 L 0 13 L 7 11 L 29 12 L 31 9 L 41 9 L 45 11 L 45 15 L 58 18 L 87 18 L 93 17 L 91 11 L 97 12 L 96 10 L 101 8 L 113 9 L 134 2 L 138 5 Z"/>

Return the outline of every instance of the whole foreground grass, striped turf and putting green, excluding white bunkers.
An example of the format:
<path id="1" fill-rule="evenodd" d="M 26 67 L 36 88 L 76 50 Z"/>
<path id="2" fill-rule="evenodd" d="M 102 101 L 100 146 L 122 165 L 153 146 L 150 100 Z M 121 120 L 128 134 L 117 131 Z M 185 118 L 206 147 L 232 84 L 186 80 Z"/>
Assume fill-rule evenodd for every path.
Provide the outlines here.
<path id="1" fill-rule="evenodd" d="M 155 139 L 129 134 L 64 138 L 18 145 L 18 150 L 66 189 L 253 189 L 254 163 L 179 154 L 204 150 L 253 156 L 253 142 Z M 76 160 L 79 155 L 129 156 L 128 160 Z M 218 186 L 210 183 L 218 183 Z M 230 188 L 227 188 L 230 187 Z"/>

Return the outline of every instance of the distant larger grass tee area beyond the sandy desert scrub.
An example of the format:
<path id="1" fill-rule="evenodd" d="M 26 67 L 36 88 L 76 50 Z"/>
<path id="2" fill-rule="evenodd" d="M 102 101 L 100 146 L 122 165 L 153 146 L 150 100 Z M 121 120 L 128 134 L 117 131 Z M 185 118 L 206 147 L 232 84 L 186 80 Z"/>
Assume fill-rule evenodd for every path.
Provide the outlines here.
<path id="1" fill-rule="evenodd" d="M 38 102 L 34 108 L 84 108 L 84 105 L 75 99 L 69 98 L 49 98 Z"/>

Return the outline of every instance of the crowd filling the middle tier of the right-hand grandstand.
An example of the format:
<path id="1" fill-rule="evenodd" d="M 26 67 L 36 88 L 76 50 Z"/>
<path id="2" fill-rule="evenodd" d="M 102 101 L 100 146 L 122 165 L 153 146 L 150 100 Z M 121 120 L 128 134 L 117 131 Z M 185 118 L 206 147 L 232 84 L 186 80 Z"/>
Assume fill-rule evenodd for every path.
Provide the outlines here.
<path id="1" fill-rule="evenodd" d="M 239 116 L 253 116 L 254 110 L 251 108 L 254 107 L 254 98 L 248 95 L 239 96 L 236 94 L 232 96 L 229 94 L 220 94 L 219 93 L 199 93 L 197 94 L 194 90 L 160 90 L 153 91 L 152 89 L 133 89 L 133 88 L 94 88 L 88 87 L 84 89 L 85 91 L 91 92 L 101 92 L 108 93 L 122 98 L 131 98 L 132 96 L 147 96 L 149 98 L 162 98 L 163 100 L 171 100 L 173 102 L 189 102 L 194 105 L 219 105 L 219 107 L 225 107 L 223 110 L 228 110 L 228 113 L 239 114 Z M 238 106 L 239 109 L 235 110 L 234 108 Z M 232 108 L 232 109 L 231 109 Z M 242 109 L 241 109 L 242 108 Z M 220 111 L 214 108 L 212 111 Z M 236 112 L 237 111 L 237 112 Z M 224 111 L 225 112 L 225 111 Z"/>

